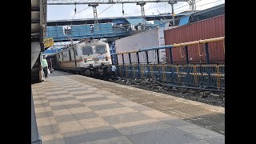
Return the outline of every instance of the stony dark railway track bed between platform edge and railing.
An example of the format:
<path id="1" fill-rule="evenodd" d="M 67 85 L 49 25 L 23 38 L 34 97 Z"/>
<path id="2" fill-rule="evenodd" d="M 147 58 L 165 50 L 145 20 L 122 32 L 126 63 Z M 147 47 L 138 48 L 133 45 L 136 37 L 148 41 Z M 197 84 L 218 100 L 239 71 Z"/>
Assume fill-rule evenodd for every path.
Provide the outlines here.
<path id="1" fill-rule="evenodd" d="M 65 70 L 66 71 L 66 70 Z M 72 74 L 77 74 L 71 72 Z M 169 94 L 179 98 L 186 98 L 196 102 L 202 102 L 213 106 L 225 107 L 225 90 L 210 89 L 210 87 L 178 86 L 170 83 L 159 82 L 155 79 L 114 78 L 109 76 L 92 76 L 103 81 L 115 82 L 125 86 L 137 87 L 142 90 L 150 90 L 162 94 Z"/>

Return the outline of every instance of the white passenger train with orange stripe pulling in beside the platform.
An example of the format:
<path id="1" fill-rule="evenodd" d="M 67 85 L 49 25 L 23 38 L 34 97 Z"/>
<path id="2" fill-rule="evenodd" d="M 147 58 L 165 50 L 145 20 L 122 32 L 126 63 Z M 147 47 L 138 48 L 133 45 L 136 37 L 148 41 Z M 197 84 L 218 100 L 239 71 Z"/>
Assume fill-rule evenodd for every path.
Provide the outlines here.
<path id="1" fill-rule="evenodd" d="M 108 74 L 112 64 L 108 43 L 98 39 L 83 40 L 47 57 L 50 58 L 54 70 L 76 71 L 86 76 Z"/>

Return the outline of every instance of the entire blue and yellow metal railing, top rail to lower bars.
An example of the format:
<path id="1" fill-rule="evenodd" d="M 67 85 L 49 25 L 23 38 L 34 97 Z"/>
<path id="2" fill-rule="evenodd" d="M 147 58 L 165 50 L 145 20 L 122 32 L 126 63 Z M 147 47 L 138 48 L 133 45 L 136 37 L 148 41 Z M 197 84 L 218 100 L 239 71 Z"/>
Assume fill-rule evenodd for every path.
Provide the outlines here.
<path id="1" fill-rule="evenodd" d="M 208 51 L 209 42 L 221 42 L 223 41 L 224 46 L 225 37 L 221 38 L 210 38 L 205 40 L 199 40 L 195 42 L 185 42 L 174 45 L 158 46 L 149 49 L 140 49 L 119 52 L 111 54 L 111 56 L 116 56 L 116 62 L 113 62 L 117 66 L 118 74 L 125 78 L 154 78 L 161 82 L 175 83 L 178 85 L 186 86 L 206 86 L 214 89 L 222 90 L 225 89 L 225 64 L 210 64 L 210 54 Z M 191 45 L 205 45 L 205 55 L 202 51 L 198 50 L 200 56 L 206 57 L 206 63 L 189 64 L 188 60 L 188 50 L 187 46 Z M 161 64 L 159 60 L 160 49 L 173 49 L 180 48 L 184 46 L 186 50 L 182 54 L 182 58 L 186 58 L 186 62 L 178 65 L 174 65 L 172 60 L 171 64 Z M 199 47 L 198 47 L 199 48 Z M 148 51 L 154 50 L 156 52 L 154 57 L 154 62 L 150 64 L 148 58 Z M 225 49 L 224 49 L 225 50 Z M 139 59 L 139 54 L 145 53 L 146 57 Z M 225 51 L 224 51 L 225 53 Z M 131 58 L 131 54 L 134 57 Z M 121 59 L 118 62 L 118 55 Z M 125 62 L 125 55 L 128 61 Z M 112 58 L 111 57 L 111 58 Z M 172 58 L 172 56 L 170 56 Z M 143 61 L 143 62 L 142 62 Z"/>

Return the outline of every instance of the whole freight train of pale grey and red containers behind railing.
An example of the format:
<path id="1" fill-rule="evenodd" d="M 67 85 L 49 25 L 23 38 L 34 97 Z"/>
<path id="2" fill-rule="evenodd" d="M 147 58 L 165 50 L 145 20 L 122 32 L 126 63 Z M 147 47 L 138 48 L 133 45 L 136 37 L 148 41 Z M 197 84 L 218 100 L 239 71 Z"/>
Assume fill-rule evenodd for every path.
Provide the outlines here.
<path id="1" fill-rule="evenodd" d="M 202 39 L 225 37 L 225 14 L 214 18 L 207 18 L 202 21 L 188 23 L 183 26 L 172 26 L 150 30 L 130 37 L 121 38 L 115 41 L 116 53 L 126 51 L 143 50 L 152 47 L 173 45 L 174 43 L 194 42 Z M 225 43 L 210 42 L 208 45 L 210 64 L 225 63 Z M 187 55 L 187 56 L 186 56 Z M 158 53 L 160 63 L 168 64 L 203 64 L 206 60 L 206 47 L 204 44 L 193 46 L 175 47 L 172 49 L 161 49 Z M 146 54 L 138 53 L 140 63 L 146 63 Z M 136 53 L 118 54 L 118 63 L 137 63 Z M 157 63 L 155 51 L 148 51 L 148 61 L 150 64 Z"/>

